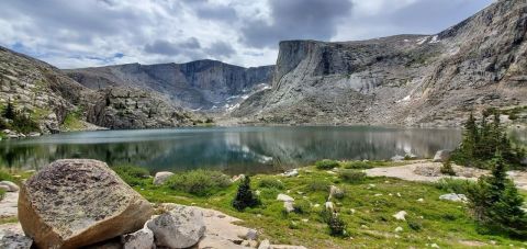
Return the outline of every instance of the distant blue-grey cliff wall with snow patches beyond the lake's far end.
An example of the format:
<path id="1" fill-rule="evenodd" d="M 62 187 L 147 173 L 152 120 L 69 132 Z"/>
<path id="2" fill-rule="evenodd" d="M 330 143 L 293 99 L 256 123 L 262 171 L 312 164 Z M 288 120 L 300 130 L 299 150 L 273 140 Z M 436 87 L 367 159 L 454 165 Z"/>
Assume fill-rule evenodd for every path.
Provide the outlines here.
<path id="1" fill-rule="evenodd" d="M 273 66 L 243 68 L 216 60 L 187 64 L 127 64 L 65 70 L 90 89 L 134 87 L 153 91 L 176 105 L 223 112 L 271 81 Z"/>

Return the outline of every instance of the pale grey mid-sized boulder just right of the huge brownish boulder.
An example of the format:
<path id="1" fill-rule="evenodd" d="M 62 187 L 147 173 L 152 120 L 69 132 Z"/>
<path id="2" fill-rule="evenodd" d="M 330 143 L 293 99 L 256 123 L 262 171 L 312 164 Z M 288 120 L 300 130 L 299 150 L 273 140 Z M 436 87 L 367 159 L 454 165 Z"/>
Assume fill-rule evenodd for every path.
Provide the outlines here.
<path id="1" fill-rule="evenodd" d="M 176 205 L 172 210 L 148 220 L 156 246 L 188 248 L 197 245 L 205 234 L 203 213 L 192 206 Z"/>

